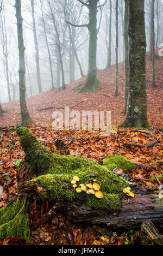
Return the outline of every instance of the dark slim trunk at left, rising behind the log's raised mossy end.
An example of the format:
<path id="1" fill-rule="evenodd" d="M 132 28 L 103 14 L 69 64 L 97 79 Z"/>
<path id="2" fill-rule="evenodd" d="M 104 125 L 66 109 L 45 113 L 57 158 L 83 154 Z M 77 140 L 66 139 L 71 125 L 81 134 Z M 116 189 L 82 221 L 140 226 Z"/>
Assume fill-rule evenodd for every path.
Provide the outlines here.
<path id="1" fill-rule="evenodd" d="M 26 105 L 26 67 L 24 60 L 24 41 L 23 41 L 23 19 L 21 15 L 21 0 L 16 0 L 15 2 L 16 9 L 16 20 L 17 20 L 17 40 L 18 40 L 18 51 L 19 51 L 19 90 L 20 90 L 20 107 L 21 107 L 21 118 L 22 124 L 27 124 L 30 121 L 27 105 Z"/>

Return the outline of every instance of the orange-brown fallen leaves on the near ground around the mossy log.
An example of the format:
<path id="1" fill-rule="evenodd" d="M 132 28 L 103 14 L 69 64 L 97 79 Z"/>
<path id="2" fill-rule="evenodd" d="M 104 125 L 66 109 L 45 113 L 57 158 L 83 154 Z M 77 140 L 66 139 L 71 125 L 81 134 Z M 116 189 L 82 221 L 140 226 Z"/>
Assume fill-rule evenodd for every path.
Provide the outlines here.
<path id="1" fill-rule="evenodd" d="M 158 176 L 160 182 L 163 183 L 163 135 L 159 129 L 113 128 L 109 136 L 103 136 L 102 132 L 89 130 L 56 131 L 49 126 L 29 126 L 29 128 L 48 150 L 56 151 L 55 141 L 59 138 L 65 142 L 71 154 L 89 157 L 99 163 L 109 154 L 121 154 L 137 164 L 137 169 L 129 174 L 131 181 L 139 182 L 142 186 L 158 188 L 155 178 Z M 0 133 L 0 207 L 5 207 L 10 201 L 15 201 L 17 198 L 16 173 L 20 159 L 24 158 L 24 152 L 14 130 L 1 128 Z M 151 147 L 127 147 L 125 145 L 125 143 L 147 145 L 155 140 L 158 140 L 158 143 Z M 33 230 L 31 245 L 123 244 L 128 237 L 121 230 L 118 231 L 118 234 L 112 234 L 106 228 L 102 229 L 91 224 L 89 228 L 83 227 L 83 225 L 80 227 L 80 224 L 74 227 L 73 223 L 70 223 L 60 212 L 56 212 L 53 219 L 47 221 L 50 210 L 48 202 L 43 201 L 42 205 L 36 205 L 35 210 L 31 213 L 31 228 Z M 23 241 L 15 237 L 12 239 L 7 237 L 1 243 L 12 245 L 23 243 Z"/>

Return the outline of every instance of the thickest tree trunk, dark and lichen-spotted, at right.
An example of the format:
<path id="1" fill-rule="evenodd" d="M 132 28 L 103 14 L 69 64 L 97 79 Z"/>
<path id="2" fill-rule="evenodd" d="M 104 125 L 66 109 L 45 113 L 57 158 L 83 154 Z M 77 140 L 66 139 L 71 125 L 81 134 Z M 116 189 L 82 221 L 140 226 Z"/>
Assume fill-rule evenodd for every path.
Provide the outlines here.
<path id="1" fill-rule="evenodd" d="M 129 0 L 129 96 L 121 126 L 148 127 L 144 0 Z"/>

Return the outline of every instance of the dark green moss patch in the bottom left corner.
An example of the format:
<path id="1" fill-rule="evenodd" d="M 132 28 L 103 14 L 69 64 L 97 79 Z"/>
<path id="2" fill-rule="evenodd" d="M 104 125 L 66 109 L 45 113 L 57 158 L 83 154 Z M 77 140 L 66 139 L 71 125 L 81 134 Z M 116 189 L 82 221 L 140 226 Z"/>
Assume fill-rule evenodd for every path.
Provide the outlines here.
<path id="1" fill-rule="evenodd" d="M 19 198 L 14 205 L 0 210 L 0 240 L 17 236 L 29 242 L 31 231 L 28 215 L 24 214 L 26 198 Z"/>

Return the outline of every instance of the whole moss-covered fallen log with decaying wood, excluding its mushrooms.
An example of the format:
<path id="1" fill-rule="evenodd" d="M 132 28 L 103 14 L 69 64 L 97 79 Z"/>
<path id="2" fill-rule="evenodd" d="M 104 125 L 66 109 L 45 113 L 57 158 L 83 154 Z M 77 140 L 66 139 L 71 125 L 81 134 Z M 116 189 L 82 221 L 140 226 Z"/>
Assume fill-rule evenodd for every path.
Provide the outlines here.
<path id="1" fill-rule="evenodd" d="M 0 216 L 3 219 L 3 222 L 0 222 L 1 239 L 7 235 L 15 235 L 26 239 L 27 242 L 29 241 L 28 216 L 32 210 L 32 198 L 38 201 L 47 200 L 51 205 L 59 202 L 62 208 L 61 211 L 65 212 L 73 221 L 114 223 L 118 225 L 126 218 L 126 221 L 129 220 L 128 223 L 131 223 L 135 221 L 134 207 L 137 209 L 137 214 L 141 207 L 143 208 L 143 213 L 145 213 L 146 209 L 149 209 L 150 217 L 153 216 L 152 209 L 154 209 L 155 219 L 160 217 L 162 221 L 162 206 L 159 204 L 156 212 L 155 203 L 153 203 L 155 199 L 153 201 L 149 200 L 145 191 L 141 191 L 139 197 L 130 197 L 128 203 L 128 197 L 123 193 L 123 188 L 129 187 L 128 181 L 112 172 L 115 168 L 123 168 L 129 171 L 136 168 L 135 164 L 126 157 L 106 157 L 102 166 L 85 157 L 53 154 L 40 144 L 39 140 L 35 138 L 28 128 L 18 128 L 17 134 L 26 154 L 25 160 L 27 164 L 23 164 L 17 174 L 20 198 L 15 205 L 0 210 Z M 95 195 L 86 194 L 85 192 L 77 193 L 71 184 L 74 176 L 80 178 L 80 181 L 77 182 L 77 187 L 80 183 L 93 183 L 93 180 L 96 180 L 103 197 L 97 198 Z M 147 205 L 142 195 L 147 200 Z M 21 208 L 16 207 L 17 204 L 20 204 L 18 202 L 21 203 Z M 127 209 L 128 217 L 125 215 L 125 208 Z M 8 209 L 13 214 L 9 218 L 5 218 Z M 146 218 L 149 216 L 147 214 Z M 24 221 L 21 221 L 23 219 Z M 140 220 L 142 219 L 140 218 Z M 14 229 L 10 229 L 10 223 L 15 227 Z"/>

